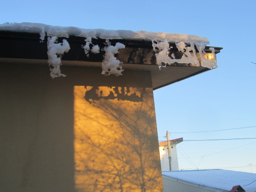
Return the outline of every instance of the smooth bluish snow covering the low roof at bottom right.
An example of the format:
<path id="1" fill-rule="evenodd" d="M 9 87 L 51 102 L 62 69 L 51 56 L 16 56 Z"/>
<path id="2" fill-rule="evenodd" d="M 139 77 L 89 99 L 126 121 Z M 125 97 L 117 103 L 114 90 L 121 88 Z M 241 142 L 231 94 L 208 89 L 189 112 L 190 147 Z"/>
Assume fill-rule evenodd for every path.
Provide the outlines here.
<path id="1" fill-rule="evenodd" d="M 235 172 L 233 170 L 223 169 L 210 169 L 162 172 L 162 175 L 202 186 L 228 191 L 231 190 L 231 188 L 235 185 L 242 186 L 246 192 L 256 191 L 256 174 L 252 173 Z"/>

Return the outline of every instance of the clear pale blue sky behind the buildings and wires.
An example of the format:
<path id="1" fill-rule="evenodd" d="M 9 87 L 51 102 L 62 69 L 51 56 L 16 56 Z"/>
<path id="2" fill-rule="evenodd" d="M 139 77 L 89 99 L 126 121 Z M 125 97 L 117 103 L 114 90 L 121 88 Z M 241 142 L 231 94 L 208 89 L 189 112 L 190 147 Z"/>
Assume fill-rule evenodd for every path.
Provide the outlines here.
<path id="1" fill-rule="evenodd" d="M 196 132 L 256 126 L 256 65 L 252 63 L 256 62 L 255 10 L 255 0 L 9 0 L 0 3 L 0 24 L 32 22 L 86 29 L 181 33 L 207 37 L 210 46 L 223 47 L 217 55 L 217 69 L 154 92 L 158 136 L 164 140 L 167 130 Z M 256 127 L 171 134 L 172 139 L 179 137 L 251 138 L 256 137 Z M 252 169 L 256 173 L 256 139 L 184 141 L 177 146 L 180 168 L 236 167 L 227 169 Z"/>

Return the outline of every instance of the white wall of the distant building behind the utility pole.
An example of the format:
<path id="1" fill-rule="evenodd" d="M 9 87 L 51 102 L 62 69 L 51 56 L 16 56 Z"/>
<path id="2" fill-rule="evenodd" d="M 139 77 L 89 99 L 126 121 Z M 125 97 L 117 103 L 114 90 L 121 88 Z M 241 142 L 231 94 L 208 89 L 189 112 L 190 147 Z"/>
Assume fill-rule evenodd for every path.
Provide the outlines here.
<path id="1" fill-rule="evenodd" d="M 160 160 L 161 160 L 161 169 L 162 171 L 170 170 L 169 161 L 168 161 L 168 147 L 159 146 Z M 178 157 L 176 144 L 170 144 L 170 154 L 171 154 L 171 166 L 172 170 L 179 170 Z"/>

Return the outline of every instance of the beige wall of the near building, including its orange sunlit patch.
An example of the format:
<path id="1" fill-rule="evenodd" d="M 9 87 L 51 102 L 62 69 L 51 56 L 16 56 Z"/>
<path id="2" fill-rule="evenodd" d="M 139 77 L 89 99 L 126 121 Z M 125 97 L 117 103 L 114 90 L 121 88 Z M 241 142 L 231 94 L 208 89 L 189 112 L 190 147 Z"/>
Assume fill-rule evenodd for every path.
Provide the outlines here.
<path id="1" fill-rule="evenodd" d="M 0 64 L 0 191 L 162 191 L 150 73 Z"/>

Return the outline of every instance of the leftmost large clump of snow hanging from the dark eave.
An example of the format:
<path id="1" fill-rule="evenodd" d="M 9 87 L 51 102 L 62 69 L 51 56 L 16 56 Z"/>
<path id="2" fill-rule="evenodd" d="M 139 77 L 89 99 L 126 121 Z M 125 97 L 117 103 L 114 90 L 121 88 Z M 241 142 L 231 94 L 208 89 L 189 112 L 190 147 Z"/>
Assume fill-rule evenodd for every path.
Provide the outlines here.
<path id="1" fill-rule="evenodd" d="M 48 37 L 47 41 L 48 47 L 48 61 L 51 71 L 51 77 L 66 77 L 66 75 L 60 73 L 61 64 L 61 56 L 66 52 L 68 53 L 70 50 L 69 43 L 66 39 L 63 39 L 62 43 L 57 43 L 57 37 Z M 53 68 L 51 68 L 53 67 Z"/>

